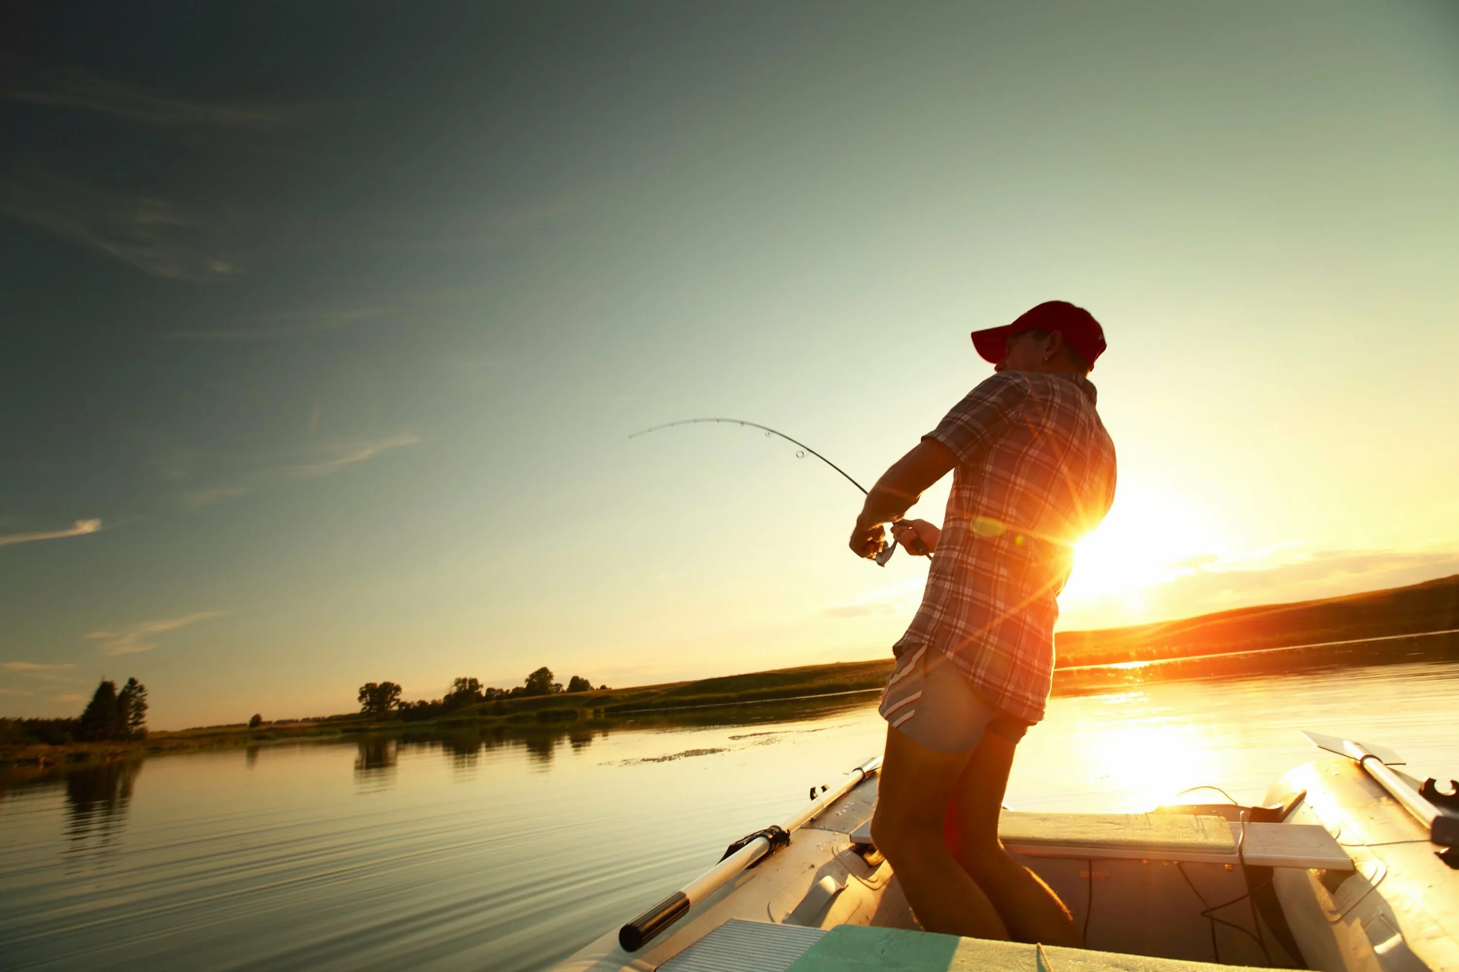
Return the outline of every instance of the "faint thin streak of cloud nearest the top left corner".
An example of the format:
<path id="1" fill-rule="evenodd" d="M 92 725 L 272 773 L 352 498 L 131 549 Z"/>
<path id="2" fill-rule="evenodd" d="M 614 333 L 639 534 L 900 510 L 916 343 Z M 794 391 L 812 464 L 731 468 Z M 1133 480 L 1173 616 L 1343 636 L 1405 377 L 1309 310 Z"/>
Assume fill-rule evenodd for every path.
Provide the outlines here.
<path id="1" fill-rule="evenodd" d="M 3 58 L 0 67 L 19 68 L 19 77 L 4 90 L 13 102 L 108 115 L 158 128 L 282 128 L 295 124 L 317 106 L 285 106 L 236 101 L 182 98 L 137 85 L 101 77 L 77 67 L 45 67 Z"/>

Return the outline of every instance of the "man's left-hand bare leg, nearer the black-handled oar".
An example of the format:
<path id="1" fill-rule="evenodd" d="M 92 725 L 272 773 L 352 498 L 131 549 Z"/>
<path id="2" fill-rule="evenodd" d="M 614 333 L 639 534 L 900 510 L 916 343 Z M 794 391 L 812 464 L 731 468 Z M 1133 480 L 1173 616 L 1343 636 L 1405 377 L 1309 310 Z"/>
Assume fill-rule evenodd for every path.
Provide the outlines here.
<path id="1" fill-rule="evenodd" d="M 928 931 L 1008 938 L 992 902 L 943 842 L 943 822 L 969 753 L 934 752 L 887 727 L 871 839 L 891 861 Z"/>

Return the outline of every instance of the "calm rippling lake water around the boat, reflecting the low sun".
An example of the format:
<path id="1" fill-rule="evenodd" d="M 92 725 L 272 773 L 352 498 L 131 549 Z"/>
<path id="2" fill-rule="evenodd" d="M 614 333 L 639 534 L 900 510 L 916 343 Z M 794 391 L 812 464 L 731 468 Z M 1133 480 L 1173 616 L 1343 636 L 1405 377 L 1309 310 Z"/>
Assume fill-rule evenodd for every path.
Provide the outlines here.
<path id="1" fill-rule="evenodd" d="M 1017 809 L 1259 801 L 1315 729 L 1459 777 L 1459 666 L 1055 698 Z M 540 969 L 880 752 L 874 695 L 728 721 L 156 756 L 0 796 L 0 966 Z M 1196 793 L 1188 800 L 1215 800 Z"/>

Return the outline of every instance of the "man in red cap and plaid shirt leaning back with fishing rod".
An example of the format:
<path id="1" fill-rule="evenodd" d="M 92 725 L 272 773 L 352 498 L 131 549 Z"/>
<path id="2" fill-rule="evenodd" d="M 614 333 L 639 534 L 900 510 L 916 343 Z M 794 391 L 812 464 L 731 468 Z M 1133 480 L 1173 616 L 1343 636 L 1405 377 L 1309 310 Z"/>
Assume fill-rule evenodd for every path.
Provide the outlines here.
<path id="1" fill-rule="evenodd" d="M 1088 373 L 1099 322 L 1050 300 L 973 332 L 994 375 L 867 494 L 851 549 L 931 551 L 922 606 L 893 647 L 871 834 L 928 931 L 1083 946 L 1068 908 L 998 841 L 1014 749 L 1043 717 L 1072 545 L 1115 497 L 1115 446 Z M 941 529 L 902 520 L 953 471 Z M 944 839 L 945 831 L 945 839 Z"/>

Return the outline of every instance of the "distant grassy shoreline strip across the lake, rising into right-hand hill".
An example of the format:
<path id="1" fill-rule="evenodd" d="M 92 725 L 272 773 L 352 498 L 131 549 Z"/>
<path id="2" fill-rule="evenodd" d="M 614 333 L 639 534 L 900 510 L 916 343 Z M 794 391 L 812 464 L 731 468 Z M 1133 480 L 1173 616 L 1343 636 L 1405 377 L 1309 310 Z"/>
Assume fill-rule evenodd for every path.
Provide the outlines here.
<path id="1" fill-rule="evenodd" d="M 1409 587 L 1288 605 L 1242 608 L 1179 621 L 1067 631 L 1055 638 L 1056 695 L 1116 691 L 1153 678 L 1239 676 L 1301 667 L 1459 660 L 1459 574 Z M 365 733 L 461 732 L 629 723 L 649 716 L 757 702 L 835 698 L 880 689 L 891 657 L 810 665 L 623 689 L 554 692 L 479 702 L 406 721 L 363 714 L 159 732 L 136 742 L 0 746 L 0 767 L 88 764 L 168 752 L 260 746 Z"/>

